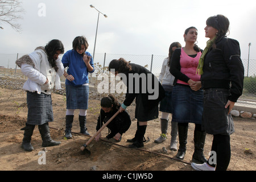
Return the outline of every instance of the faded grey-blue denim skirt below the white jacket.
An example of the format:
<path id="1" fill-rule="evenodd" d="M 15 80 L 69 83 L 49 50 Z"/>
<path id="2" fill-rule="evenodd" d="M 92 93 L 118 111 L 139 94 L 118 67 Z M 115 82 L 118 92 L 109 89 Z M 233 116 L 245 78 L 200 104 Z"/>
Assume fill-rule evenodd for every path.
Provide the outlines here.
<path id="1" fill-rule="evenodd" d="M 53 121 L 51 94 L 27 91 L 27 108 L 27 123 L 29 125 L 43 125 Z"/>

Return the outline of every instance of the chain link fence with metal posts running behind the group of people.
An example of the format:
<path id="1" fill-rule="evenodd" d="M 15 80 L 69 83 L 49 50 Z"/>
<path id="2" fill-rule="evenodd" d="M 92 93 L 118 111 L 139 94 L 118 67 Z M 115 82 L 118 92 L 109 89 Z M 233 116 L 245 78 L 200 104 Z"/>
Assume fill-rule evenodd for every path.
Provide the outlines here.
<path id="1" fill-rule="evenodd" d="M 16 76 L 16 69 L 19 69 L 15 61 L 19 57 L 22 57 L 25 53 L 15 53 L 15 54 L 0 54 L 0 68 L 9 68 L 14 69 L 12 73 Z M 60 56 L 61 59 L 62 55 Z M 159 74 L 162 69 L 163 60 L 167 56 L 159 55 L 119 55 L 119 54 L 110 54 L 110 53 L 96 53 L 94 55 L 94 64 L 97 67 L 98 71 L 102 73 L 107 71 L 107 67 L 113 59 L 123 59 L 130 61 L 131 63 L 142 65 L 146 67 L 149 71 L 154 73 L 156 77 L 159 77 Z M 245 68 L 245 80 L 243 85 L 243 95 L 238 100 L 236 105 L 242 105 L 247 107 L 256 107 L 256 60 L 255 59 L 242 59 L 243 67 Z M 0 76 L 4 74 L 1 73 Z M 91 75 L 96 77 L 96 73 Z"/>

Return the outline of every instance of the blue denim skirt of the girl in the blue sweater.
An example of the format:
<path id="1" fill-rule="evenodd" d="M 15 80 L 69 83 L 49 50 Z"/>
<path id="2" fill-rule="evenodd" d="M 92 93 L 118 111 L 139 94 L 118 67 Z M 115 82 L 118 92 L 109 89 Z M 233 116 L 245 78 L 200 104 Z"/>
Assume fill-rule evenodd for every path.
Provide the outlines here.
<path id="1" fill-rule="evenodd" d="M 89 85 L 65 86 L 67 109 L 88 109 Z"/>

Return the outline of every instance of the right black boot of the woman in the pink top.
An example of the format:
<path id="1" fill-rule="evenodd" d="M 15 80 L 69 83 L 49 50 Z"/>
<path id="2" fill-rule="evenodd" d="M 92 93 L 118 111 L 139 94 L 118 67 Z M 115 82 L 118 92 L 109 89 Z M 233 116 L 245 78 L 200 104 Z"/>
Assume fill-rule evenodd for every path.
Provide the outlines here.
<path id="1" fill-rule="evenodd" d="M 194 131 L 194 146 L 195 151 L 192 156 L 192 162 L 197 164 L 203 164 L 207 162 L 204 156 L 204 143 L 205 143 L 206 132 L 205 131 Z"/>

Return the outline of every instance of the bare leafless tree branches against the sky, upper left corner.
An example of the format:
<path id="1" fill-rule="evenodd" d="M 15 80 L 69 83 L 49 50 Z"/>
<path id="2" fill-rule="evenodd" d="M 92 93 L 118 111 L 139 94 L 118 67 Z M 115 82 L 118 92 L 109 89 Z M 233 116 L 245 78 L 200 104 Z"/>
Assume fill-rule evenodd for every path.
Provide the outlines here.
<path id="1" fill-rule="evenodd" d="M 16 20 L 22 19 L 24 9 L 19 0 L 0 0 L 0 22 L 9 24 L 14 30 L 20 32 L 22 28 Z"/>

